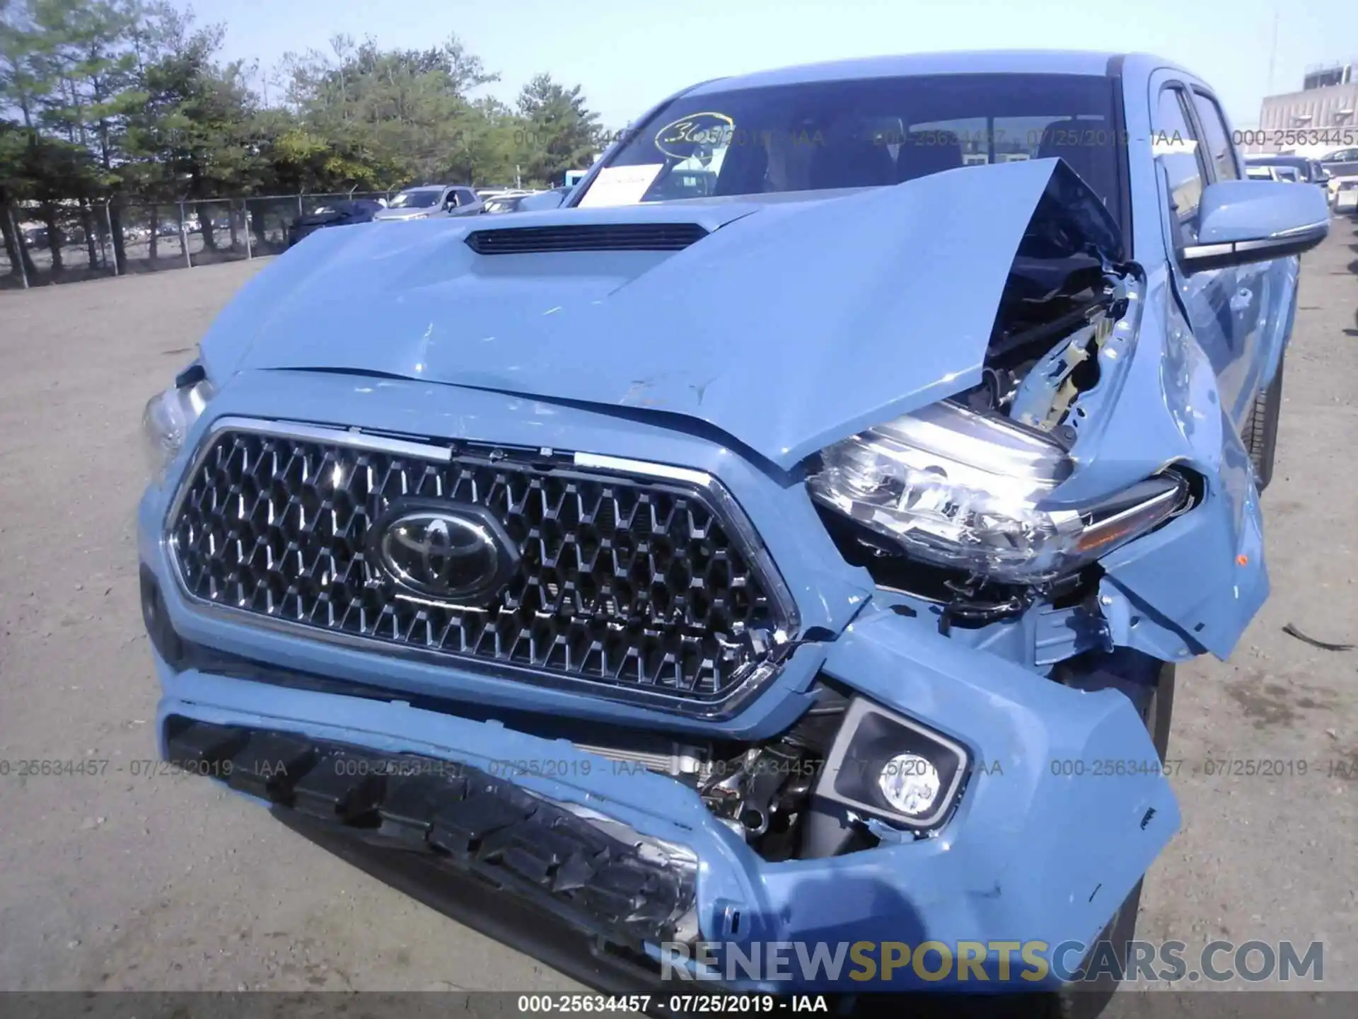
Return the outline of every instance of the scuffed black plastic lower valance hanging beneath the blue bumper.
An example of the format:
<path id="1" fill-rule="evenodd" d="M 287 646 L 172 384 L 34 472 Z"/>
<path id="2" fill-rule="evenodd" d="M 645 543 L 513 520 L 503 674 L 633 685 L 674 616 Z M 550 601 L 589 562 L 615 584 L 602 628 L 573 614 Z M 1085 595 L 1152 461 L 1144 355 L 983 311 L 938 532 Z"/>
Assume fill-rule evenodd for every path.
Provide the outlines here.
<path id="1" fill-rule="evenodd" d="M 682 846 L 534 796 L 489 772 L 297 734 L 171 717 L 168 759 L 388 852 L 429 856 L 645 959 L 689 940 L 697 860 Z M 497 769 L 498 770 L 498 769 Z"/>

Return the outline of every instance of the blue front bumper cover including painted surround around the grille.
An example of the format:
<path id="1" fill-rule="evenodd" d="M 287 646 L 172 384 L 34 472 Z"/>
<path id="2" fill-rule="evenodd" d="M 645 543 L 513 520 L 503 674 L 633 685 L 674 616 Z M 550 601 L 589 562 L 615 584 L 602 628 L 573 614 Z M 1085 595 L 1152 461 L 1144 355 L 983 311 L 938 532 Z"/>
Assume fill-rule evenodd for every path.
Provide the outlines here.
<path id="1" fill-rule="evenodd" d="M 474 390 L 456 395 L 455 409 L 430 412 L 426 408 L 447 406 L 443 387 L 341 376 L 308 376 L 307 386 L 299 387 L 288 372 L 259 372 L 249 385 L 219 393 L 213 412 L 266 417 L 270 409 L 289 406 L 299 420 L 325 423 L 333 408 L 344 406 L 359 427 L 417 435 L 466 435 L 493 427 L 505 442 L 520 446 L 603 450 L 709 470 L 754 520 L 773 522 L 763 538 L 788 577 L 804 625 L 823 639 L 801 644 L 777 682 L 741 715 L 712 724 L 531 689 L 456 663 L 413 663 L 323 645 L 196 610 L 174 580 L 162 542 L 170 488 L 153 488 L 140 508 L 139 550 L 143 569 L 163 595 L 166 626 L 205 648 L 269 663 L 272 673 L 210 663 L 171 667 L 158 655 L 163 687 L 158 732 L 166 757 L 179 753 L 172 738 L 181 727 L 206 723 L 479 769 L 509 783 L 517 791 L 512 795 L 543 798 L 568 812 L 592 811 L 645 840 L 682 846 L 694 860 L 698 939 L 735 946 L 746 957 L 754 946 L 773 943 L 800 943 L 808 952 L 827 946 L 834 954 L 837 946 L 866 942 L 879 946 L 879 958 L 884 943 L 926 940 L 949 946 L 955 955 L 964 942 L 1040 943 L 1052 951 L 1071 942 L 1090 944 L 1177 829 L 1168 783 L 1152 766 L 1158 761 L 1156 750 L 1123 694 L 1059 686 L 995 654 L 941 636 L 936 620 L 896 614 L 870 601 L 865 605 L 862 577 L 843 565 L 796 486 L 778 484 L 698 436 Z M 171 477 L 182 473 L 187 450 L 208 424 L 196 425 Z M 379 696 L 280 682 L 278 674 L 288 670 L 365 683 Z M 530 735 L 512 724 L 515 715 L 528 712 L 603 727 L 645 727 L 674 732 L 679 740 L 754 742 L 784 731 L 808 708 L 807 692 L 818 675 L 967 746 L 974 770 L 959 808 L 937 837 L 915 840 L 883 830 L 872 849 L 770 863 L 680 781 L 618 768 L 568 740 Z M 299 825 L 307 822 L 301 814 L 289 817 Z M 441 883 L 445 875 L 437 868 L 447 860 L 435 857 L 451 857 L 437 845 L 425 845 L 414 857 L 372 844 L 364 844 L 364 852 L 369 861 L 373 853 L 399 860 L 397 870 L 405 874 L 407 889 Z M 464 884 L 469 890 L 460 899 L 444 897 L 444 902 L 470 901 L 471 890 L 483 887 L 481 879 Z M 610 937 L 608 929 L 591 927 L 588 917 L 566 916 L 526 897 L 505 912 L 550 918 L 564 929 L 592 935 L 592 944 L 611 946 L 595 952 L 591 965 L 596 969 L 581 976 L 608 985 L 617 985 L 619 958 L 633 977 L 659 974 L 660 942 L 672 933 L 657 921 L 652 929 L 631 928 L 627 937 L 612 931 Z M 530 921 L 489 932 L 550 962 L 532 927 Z M 1073 965 L 1078 958 L 1067 952 L 1065 961 Z M 989 986 L 999 982 L 999 966 L 998 957 L 985 957 Z M 1021 969 L 1006 966 L 1005 971 L 1023 989 L 1042 986 L 1031 976 L 1019 980 Z M 877 969 L 865 978 L 853 965 L 838 974 L 820 969 L 794 971 L 790 980 L 737 976 L 724 982 L 773 992 L 940 986 L 914 967 L 895 969 L 889 978 Z M 972 978 L 961 989 L 986 988 Z"/>

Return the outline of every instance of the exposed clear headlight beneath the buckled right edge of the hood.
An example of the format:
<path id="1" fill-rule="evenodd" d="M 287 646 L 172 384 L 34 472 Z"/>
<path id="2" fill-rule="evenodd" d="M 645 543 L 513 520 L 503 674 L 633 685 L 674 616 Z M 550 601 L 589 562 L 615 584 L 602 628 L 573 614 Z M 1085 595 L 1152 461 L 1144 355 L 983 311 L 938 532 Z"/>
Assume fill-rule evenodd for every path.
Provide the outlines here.
<path id="1" fill-rule="evenodd" d="M 925 562 L 1005 583 L 1070 573 L 1179 512 L 1188 485 L 1157 474 L 1078 510 L 1044 500 L 1073 470 L 1035 429 L 944 401 L 826 448 L 820 504 Z"/>

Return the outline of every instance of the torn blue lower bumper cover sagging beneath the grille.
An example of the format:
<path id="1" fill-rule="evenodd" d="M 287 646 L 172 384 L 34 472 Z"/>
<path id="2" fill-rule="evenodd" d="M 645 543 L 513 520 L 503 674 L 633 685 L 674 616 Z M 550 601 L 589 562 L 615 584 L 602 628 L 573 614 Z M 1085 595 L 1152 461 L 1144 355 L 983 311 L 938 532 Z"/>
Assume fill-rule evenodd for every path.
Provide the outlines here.
<path id="1" fill-rule="evenodd" d="M 858 654 L 864 662 L 881 659 L 891 654 L 889 644 L 881 632 L 869 636 Z M 960 942 L 1038 942 L 1052 950 L 1067 942 L 1092 944 L 1175 832 L 1179 817 L 1161 777 L 1090 777 L 1093 762 L 1146 761 L 1154 750 L 1122 694 L 1081 694 L 1029 679 L 1039 690 L 1050 687 L 1061 700 L 1069 698 L 1066 705 L 1052 701 L 1032 711 L 1008 701 L 1002 681 L 986 682 L 987 670 L 976 668 L 987 664 L 986 655 L 964 654 L 979 659 L 972 662 L 972 681 L 953 683 L 961 692 L 957 696 L 940 690 L 929 707 L 953 717 L 955 709 L 978 696 L 972 717 L 983 711 L 979 728 L 993 728 L 989 735 L 994 736 L 982 745 L 1002 749 L 983 759 L 983 770 L 972 777 L 961 808 L 942 833 L 922 841 L 884 841 L 846 856 L 775 864 L 758 857 L 678 781 L 619 770 L 570 743 L 515 732 L 496 721 L 422 711 L 402 701 L 285 689 L 193 670 L 174 673 L 158 660 L 166 690 L 158 723 L 167 758 L 182 757 L 171 736 L 183 720 L 193 720 L 297 734 L 369 753 L 418 754 L 497 779 L 508 768 L 512 784 L 528 793 L 595 811 L 689 851 L 695 859 L 699 937 L 743 946 L 746 954 L 754 943 L 796 942 L 824 943 L 831 951 L 858 942 L 934 940 L 953 947 Z M 894 664 L 899 668 L 904 663 L 898 659 Z M 1005 671 L 998 659 L 991 664 L 1001 666 L 991 673 Z M 918 663 L 917 670 L 926 681 L 929 670 Z M 881 679 L 894 677 L 883 674 Z M 1054 762 L 1065 761 L 1088 762 L 1086 773 L 1054 774 L 1062 770 Z M 588 924 L 566 923 L 581 932 L 603 933 Z M 657 955 L 667 932 L 656 923 L 649 936 L 637 929 L 633 935 L 631 943 L 603 940 L 621 946 L 618 952 L 636 969 L 636 948 Z M 517 936 L 513 943 L 519 943 Z M 880 973 L 877 980 L 864 981 L 861 971 L 853 977 L 847 969 L 838 980 L 818 973 L 790 982 L 732 984 L 782 992 L 938 989 L 913 970 L 896 970 L 883 982 Z M 998 970 L 990 973 L 991 980 L 998 977 Z M 1032 989 L 1033 984 L 1024 986 Z"/>

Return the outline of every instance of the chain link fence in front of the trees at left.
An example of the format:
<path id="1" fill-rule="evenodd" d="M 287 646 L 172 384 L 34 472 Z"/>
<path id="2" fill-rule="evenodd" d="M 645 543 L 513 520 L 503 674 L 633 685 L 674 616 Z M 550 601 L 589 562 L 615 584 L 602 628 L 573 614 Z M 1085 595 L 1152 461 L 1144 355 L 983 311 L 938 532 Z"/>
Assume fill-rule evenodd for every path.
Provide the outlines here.
<path id="1" fill-rule="evenodd" d="M 189 269 L 288 246 L 288 228 L 335 201 L 388 192 L 261 194 L 166 204 L 53 201 L 0 209 L 0 289 Z"/>

